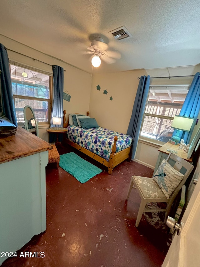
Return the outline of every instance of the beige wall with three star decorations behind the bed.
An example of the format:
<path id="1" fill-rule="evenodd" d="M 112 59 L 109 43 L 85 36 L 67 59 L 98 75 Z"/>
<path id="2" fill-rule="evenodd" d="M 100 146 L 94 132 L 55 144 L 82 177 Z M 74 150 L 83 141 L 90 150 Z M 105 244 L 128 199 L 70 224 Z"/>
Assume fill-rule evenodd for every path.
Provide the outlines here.
<path id="1" fill-rule="evenodd" d="M 138 76 L 145 74 L 145 70 L 132 70 L 93 75 L 89 111 L 99 126 L 127 133 L 139 84 Z M 100 90 L 97 90 L 97 85 L 100 85 Z M 103 94 L 104 90 L 107 90 L 107 95 Z"/>

